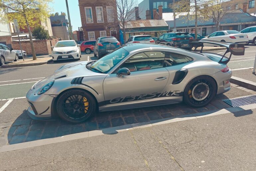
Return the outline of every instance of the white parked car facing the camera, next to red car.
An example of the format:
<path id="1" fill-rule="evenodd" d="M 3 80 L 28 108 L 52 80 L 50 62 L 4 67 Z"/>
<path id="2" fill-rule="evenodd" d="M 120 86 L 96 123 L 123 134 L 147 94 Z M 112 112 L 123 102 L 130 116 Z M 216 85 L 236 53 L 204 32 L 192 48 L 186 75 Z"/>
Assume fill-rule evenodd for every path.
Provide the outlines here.
<path id="1" fill-rule="evenodd" d="M 78 59 L 81 57 L 80 44 L 77 44 L 74 40 L 59 41 L 53 48 L 52 57 L 53 61 L 66 60 L 66 59 Z"/>

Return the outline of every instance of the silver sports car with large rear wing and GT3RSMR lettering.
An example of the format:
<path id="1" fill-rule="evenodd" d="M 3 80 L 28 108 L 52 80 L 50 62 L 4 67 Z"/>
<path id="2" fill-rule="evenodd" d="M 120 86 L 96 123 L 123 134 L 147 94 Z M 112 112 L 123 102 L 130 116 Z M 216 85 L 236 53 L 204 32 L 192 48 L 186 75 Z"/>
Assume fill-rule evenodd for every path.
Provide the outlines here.
<path id="1" fill-rule="evenodd" d="M 97 61 L 61 66 L 27 93 L 28 114 L 46 120 L 59 116 L 78 123 L 95 112 L 185 102 L 199 108 L 230 89 L 227 67 L 231 55 L 243 55 L 244 45 L 214 41 L 229 57 L 192 52 L 159 44 L 129 44 Z"/>

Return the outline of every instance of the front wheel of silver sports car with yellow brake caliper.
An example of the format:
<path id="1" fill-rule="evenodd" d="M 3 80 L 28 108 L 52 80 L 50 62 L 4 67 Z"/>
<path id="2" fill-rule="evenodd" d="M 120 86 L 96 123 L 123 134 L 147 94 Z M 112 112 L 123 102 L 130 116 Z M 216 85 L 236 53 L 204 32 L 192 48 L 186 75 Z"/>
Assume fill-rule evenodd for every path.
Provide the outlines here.
<path id="1" fill-rule="evenodd" d="M 58 97 L 56 111 L 63 120 L 80 123 L 95 114 L 96 102 L 86 91 L 71 89 Z"/>

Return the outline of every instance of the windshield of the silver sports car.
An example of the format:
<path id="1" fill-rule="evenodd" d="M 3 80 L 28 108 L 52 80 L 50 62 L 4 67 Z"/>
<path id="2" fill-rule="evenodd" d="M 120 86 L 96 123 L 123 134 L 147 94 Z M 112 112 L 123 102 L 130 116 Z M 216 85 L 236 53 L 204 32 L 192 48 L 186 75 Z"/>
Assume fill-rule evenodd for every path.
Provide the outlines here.
<path id="1" fill-rule="evenodd" d="M 94 62 L 89 69 L 96 72 L 107 73 L 128 54 L 129 52 L 127 50 L 123 49 L 122 47 L 119 47 L 112 53 L 109 53 L 103 58 Z"/>

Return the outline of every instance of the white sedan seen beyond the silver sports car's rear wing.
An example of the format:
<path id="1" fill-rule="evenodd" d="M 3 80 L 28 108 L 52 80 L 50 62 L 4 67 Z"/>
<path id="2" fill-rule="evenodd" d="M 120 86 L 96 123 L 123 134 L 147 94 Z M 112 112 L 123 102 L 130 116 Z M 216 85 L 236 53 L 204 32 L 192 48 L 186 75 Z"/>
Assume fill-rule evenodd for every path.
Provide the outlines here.
<path id="1" fill-rule="evenodd" d="M 249 41 L 248 36 L 246 34 L 242 34 L 236 30 L 225 30 L 225 31 L 214 32 L 201 40 L 220 41 L 220 42 L 239 43 L 239 44 L 247 44 Z"/>

